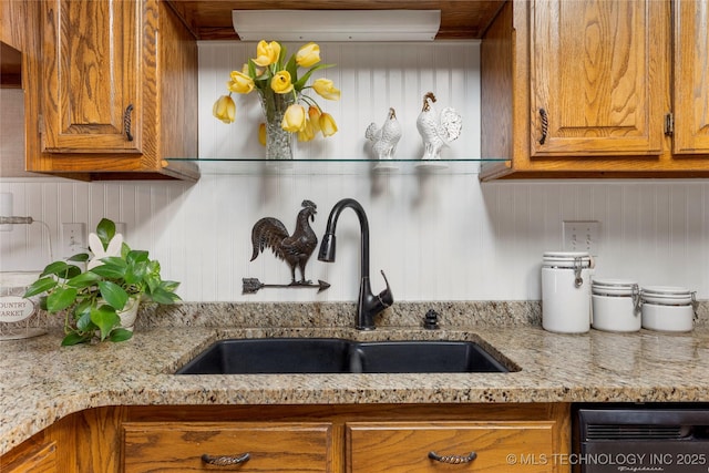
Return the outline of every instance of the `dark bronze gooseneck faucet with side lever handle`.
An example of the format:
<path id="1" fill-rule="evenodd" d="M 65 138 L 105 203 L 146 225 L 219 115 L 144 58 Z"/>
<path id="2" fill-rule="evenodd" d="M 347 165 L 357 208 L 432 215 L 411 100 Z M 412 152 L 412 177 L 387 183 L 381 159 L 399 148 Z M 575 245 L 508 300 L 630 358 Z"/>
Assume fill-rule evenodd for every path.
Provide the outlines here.
<path id="1" fill-rule="evenodd" d="M 387 288 L 374 295 L 372 292 L 371 284 L 369 280 L 369 222 L 364 208 L 359 202 L 353 198 L 343 198 L 330 210 L 328 217 L 328 225 L 320 244 L 320 250 L 318 253 L 318 259 L 320 261 L 335 261 L 336 238 L 335 230 L 337 228 L 337 220 L 345 208 L 351 208 L 357 214 L 360 226 L 360 286 L 359 298 L 357 301 L 357 328 L 359 330 L 373 330 L 374 317 L 381 313 L 387 307 L 394 304 L 394 298 L 389 287 L 389 281 L 384 271 L 381 275 L 384 278 Z"/>

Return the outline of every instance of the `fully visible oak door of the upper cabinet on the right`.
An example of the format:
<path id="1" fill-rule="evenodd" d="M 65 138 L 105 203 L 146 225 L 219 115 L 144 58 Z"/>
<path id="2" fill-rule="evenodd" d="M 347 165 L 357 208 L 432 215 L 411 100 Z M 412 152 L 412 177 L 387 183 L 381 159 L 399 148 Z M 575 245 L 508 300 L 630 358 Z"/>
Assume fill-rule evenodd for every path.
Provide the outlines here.
<path id="1" fill-rule="evenodd" d="M 668 29 L 666 1 L 534 0 L 532 157 L 659 155 Z"/>

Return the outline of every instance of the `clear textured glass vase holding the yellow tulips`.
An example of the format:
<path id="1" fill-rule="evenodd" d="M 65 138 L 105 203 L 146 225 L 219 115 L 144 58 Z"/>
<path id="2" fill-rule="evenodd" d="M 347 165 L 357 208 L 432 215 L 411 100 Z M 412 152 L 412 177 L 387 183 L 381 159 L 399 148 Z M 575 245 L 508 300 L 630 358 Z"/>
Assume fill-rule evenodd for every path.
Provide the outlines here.
<path id="1" fill-rule="evenodd" d="M 266 160 L 292 160 L 292 133 L 281 126 L 289 105 L 296 102 L 294 94 L 259 91 L 266 119 Z"/>

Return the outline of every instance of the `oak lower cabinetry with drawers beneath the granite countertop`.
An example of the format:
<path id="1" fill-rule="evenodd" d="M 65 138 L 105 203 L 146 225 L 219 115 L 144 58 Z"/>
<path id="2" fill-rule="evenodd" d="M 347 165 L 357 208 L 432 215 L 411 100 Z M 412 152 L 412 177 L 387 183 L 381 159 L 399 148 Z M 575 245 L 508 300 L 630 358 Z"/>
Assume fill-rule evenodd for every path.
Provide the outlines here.
<path id="1" fill-rule="evenodd" d="M 567 403 L 123 405 L 60 420 L 0 471 L 568 473 L 569 453 Z"/>

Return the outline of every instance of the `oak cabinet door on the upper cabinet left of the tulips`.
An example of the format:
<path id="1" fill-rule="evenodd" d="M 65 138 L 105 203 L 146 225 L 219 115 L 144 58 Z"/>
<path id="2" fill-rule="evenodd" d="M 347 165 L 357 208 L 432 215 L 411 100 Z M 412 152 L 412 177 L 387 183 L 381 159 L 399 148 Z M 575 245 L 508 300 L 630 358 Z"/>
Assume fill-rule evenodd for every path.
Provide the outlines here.
<path id="1" fill-rule="evenodd" d="M 141 11 L 134 0 L 44 2 L 44 151 L 141 152 Z"/>

